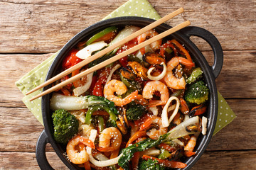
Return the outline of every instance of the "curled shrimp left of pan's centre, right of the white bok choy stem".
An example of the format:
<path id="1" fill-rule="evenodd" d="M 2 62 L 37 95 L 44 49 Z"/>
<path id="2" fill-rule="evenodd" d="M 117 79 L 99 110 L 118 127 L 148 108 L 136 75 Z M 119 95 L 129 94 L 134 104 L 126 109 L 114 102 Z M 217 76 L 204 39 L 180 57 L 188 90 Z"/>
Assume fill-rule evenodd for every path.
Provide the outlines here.
<path id="1" fill-rule="evenodd" d="M 127 86 L 122 81 L 112 79 L 104 86 L 104 96 L 105 98 L 109 99 L 110 101 L 113 101 L 116 106 L 124 106 L 130 103 L 131 101 L 134 101 L 135 98 L 137 98 L 138 91 L 132 92 L 132 94 L 129 94 L 129 96 L 125 98 L 119 98 L 114 95 L 116 93 L 117 95 L 122 95 L 127 92 Z"/>

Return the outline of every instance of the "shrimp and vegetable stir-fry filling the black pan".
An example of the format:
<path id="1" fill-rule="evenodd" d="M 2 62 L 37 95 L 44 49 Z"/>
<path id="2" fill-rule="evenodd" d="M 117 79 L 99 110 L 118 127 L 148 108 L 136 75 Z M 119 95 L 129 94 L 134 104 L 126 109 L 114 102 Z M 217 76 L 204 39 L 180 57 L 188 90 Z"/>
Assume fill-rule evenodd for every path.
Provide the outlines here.
<path id="1" fill-rule="evenodd" d="M 112 26 L 92 35 L 70 50 L 60 72 L 139 29 Z M 149 30 L 60 81 L 155 35 Z M 181 169 L 197 154 L 198 135 L 206 135 L 208 95 L 186 47 L 158 40 L 55 91 L 53 135 L 85 169 Z"/>

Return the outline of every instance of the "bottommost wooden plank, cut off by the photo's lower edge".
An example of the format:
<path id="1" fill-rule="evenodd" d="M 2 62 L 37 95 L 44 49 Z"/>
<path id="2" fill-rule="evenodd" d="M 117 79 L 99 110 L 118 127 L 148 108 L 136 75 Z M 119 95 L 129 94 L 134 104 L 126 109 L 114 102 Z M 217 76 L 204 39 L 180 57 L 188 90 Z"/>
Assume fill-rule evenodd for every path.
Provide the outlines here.
<path id="1" fill-rule="evenodd" d="M 68 169 L 55 152 L 47 152 L 54 169 Z M 15 159 L 15 161 L 14 161 Z M 1 169 L 39 169 L 34 152 L 0 152 Z M 193 170 L 255 169 L 256 151 L 205 152 Z"/>

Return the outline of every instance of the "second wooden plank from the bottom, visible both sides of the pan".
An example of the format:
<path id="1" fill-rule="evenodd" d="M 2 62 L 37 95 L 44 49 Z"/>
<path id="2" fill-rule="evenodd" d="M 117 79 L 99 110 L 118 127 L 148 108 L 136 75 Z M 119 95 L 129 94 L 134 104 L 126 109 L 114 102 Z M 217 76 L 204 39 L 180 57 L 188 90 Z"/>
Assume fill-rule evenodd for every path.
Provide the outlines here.
<path id="1" fill-rule="evenodd" d="M 256 115 L 252 114 L 256 112 L 256 100 L 228 100 L 228 103 L 238 118 L 213 136 L 208 150 L 256 149 Z M 0 152 L 35 151 L 43 126 L 27 108 L 0 107 L 0 118 Z"/>

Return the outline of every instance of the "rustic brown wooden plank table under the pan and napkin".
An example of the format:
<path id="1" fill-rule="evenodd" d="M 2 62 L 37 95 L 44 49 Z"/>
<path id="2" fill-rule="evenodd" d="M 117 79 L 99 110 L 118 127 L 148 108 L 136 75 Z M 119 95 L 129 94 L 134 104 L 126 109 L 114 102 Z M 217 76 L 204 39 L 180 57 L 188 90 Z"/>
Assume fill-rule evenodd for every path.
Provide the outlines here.
<path id="1" fill-rule="evenodd" d="M 0 169 L 39 169 L 35 148 L 43 126 L 21 101 L 14 85 L 83 28 L 100 21 L 127 0 L 0 2 Z M 253 0 L 150 0 L 161 16 L 180 8 L 192 26 L 210 30 L 224 50 L 218 91 L 238 116 L 213 137 L 193 169 L 256 167 L 256 9 Z M 171 26 L 183 18 L 169 21 Z M 213 63 L 209 45 L 193 38 Z M 55 169 L 67 169 L 53 149 L 47 157 Z"/>

